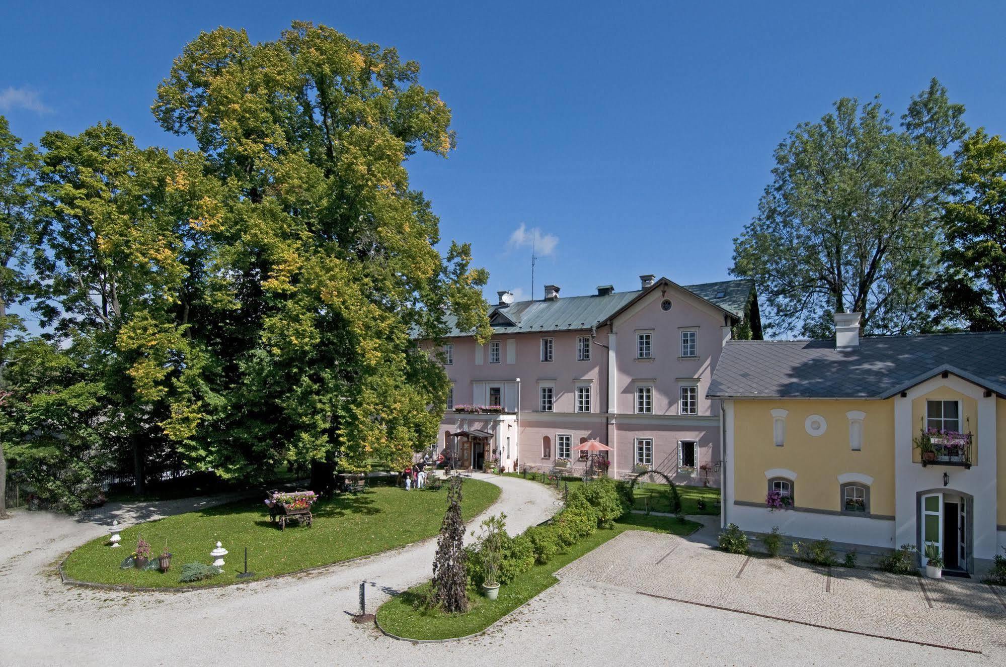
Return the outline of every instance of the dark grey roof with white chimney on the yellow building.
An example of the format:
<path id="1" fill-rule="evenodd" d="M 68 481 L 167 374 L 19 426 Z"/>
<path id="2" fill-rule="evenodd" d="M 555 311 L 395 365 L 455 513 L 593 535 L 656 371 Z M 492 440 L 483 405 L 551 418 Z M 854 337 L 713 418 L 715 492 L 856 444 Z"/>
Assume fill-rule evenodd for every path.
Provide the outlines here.
<path id="1" fill-rule="evenodd" d="M 945 371 L 1006 396 L 1006 332 L 729 342 L 707 396 L 884 399 Z"/>

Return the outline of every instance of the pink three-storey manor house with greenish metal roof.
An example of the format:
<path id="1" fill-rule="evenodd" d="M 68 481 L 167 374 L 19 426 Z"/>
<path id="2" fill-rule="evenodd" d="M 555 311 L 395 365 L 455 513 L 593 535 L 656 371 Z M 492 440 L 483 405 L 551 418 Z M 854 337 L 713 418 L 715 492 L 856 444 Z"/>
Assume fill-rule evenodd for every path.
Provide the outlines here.
<path id="1" fill-rule="evenodd" d="M 453 328 L 438 451 L 461 468 L 498 460 L 575 473 L 588 459 L 573 447 L 598 440 L 613 450 L 612 476 L 651 469 L 718 485 L 720 413 L 705 393 L 726 341 L 762 338 L 753 283 L 640 279 L 589 296 L 560 297 L 555 285 L 541 300 L 498 292 L 484 345 Z"/>

